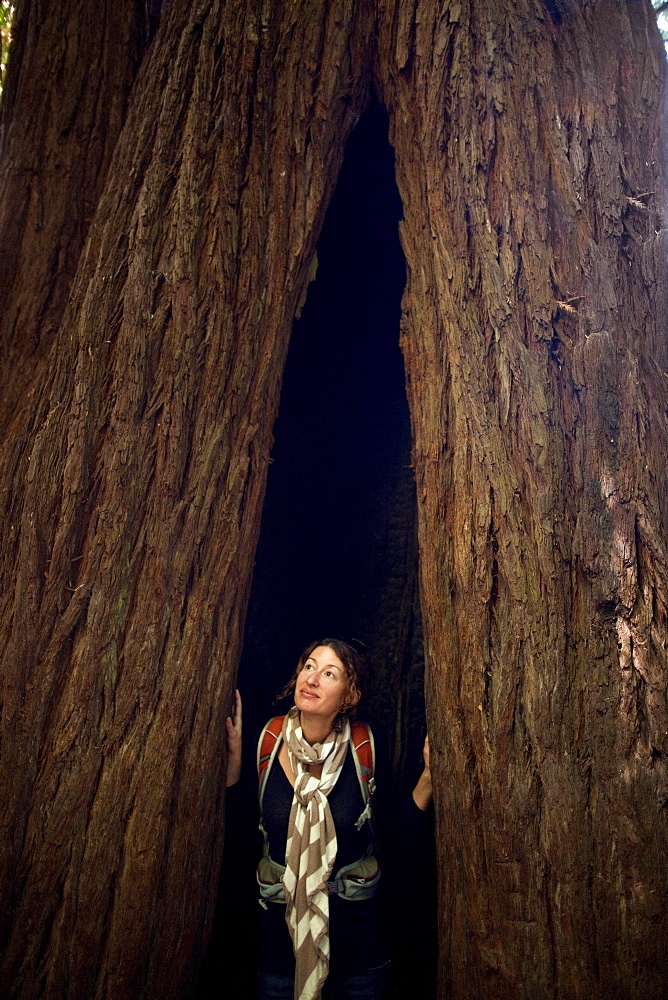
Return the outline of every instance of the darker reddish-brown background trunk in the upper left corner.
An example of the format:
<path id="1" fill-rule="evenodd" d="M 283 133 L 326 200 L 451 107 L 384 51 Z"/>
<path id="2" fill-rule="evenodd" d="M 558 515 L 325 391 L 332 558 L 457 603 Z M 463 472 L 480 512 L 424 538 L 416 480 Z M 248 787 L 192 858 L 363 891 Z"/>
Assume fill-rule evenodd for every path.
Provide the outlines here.
<path id="1" fill-rule="evenodd" d="M 67 303 L 148 43 L 148 4 L 19 0 L 0 116 L 0 435 Z"/>

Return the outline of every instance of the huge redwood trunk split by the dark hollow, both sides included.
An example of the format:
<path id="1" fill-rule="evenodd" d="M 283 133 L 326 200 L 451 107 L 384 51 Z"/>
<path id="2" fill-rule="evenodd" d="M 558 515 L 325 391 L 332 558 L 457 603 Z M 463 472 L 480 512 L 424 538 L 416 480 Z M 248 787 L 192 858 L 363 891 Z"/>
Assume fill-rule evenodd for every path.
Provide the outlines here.
<path id="1" fill-rule="evenodd" d="M 648 4 L 165 14 L 2 453 L 3 995 L 183 997 L 286 345 L 386 103 L 441 993 L 663 996 L 664 57 Z M 221 984 L 224 989 L 224 984 Z"/>

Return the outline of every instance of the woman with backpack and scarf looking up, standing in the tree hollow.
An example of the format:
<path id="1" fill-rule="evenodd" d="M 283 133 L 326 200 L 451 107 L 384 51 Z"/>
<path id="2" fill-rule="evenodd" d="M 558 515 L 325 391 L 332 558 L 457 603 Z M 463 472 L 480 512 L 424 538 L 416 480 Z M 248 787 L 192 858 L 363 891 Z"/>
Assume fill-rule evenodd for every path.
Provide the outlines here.
<path id="1" fill-rule="evenodd" d="M 293 707 L 273 726 L 276 745 L 260 762 L 267 768 L 261 786 L 265 854 L 258 867 L 265 906 L 260 1000 L 318 1000 L 323 987 L 332 1000 L 381 1000 L 386 993 L 379 871 L 358 751 L 351 745 L 360 666 L 359 654 L 341 640 L 307 646 L 285 692 L 294 692 Z M 239 725 L 237 710 L 228 720 L 232 757 L 238 756 Z M 413 792 L 421 809 L 431 800 L 426 756 L 425 763 Z"/>

